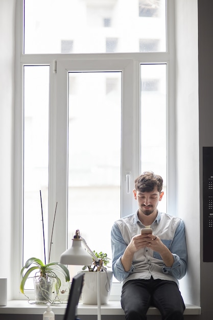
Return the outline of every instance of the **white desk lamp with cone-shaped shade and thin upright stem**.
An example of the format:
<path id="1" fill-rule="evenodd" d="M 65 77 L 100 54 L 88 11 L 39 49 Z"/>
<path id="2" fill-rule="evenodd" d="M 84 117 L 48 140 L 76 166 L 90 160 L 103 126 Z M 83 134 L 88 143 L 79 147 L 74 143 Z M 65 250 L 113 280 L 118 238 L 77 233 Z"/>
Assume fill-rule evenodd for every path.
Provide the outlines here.
<path id="1" fill-rule="evenodd" d="M 81 243 L 86 250 L 81 246 Z M 89 254 L 88 254 L 89 252 Z M 92 258 L 97 266 L 97 305 L 98 305 L 98 320 L 101 320 L 101 282 L 100 282 L 100 270 L 102 267 L 102 260 L 99 260 L 92 250 L 86 244 L 86 241 L 80 236 L 79 230 L 76 230 L 76 235 L 73 239 L 73 245 L 67 249 L 60 257 L 60 263 L 69 265 L 91 265 Z"/>

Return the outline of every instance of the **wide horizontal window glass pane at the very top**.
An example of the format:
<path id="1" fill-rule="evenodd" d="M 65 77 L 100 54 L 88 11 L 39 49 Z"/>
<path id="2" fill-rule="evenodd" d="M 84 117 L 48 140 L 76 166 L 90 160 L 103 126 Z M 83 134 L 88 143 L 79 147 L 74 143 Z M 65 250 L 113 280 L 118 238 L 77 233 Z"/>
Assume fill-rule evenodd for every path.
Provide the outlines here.
<path id="1" fill-rule="evenodd" d="M 165 2 L 25 0 L 24 53 L 165 52 Z"/>

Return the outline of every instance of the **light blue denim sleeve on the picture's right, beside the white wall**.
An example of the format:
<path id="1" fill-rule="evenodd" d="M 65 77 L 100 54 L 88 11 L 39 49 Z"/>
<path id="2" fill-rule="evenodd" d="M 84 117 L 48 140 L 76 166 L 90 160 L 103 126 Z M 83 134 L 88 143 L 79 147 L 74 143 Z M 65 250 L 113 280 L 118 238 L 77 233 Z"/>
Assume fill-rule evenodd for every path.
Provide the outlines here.
<path id="1" fill-rule="evenodd" d="M 181 220 L 175 232 L 170 251 L 174 257 L 174 263 L 171 267 L 163 265 L 163 273 L 169 273 L 176 279 L 182 279 L 185 276 L 187 268 L 187 248 L 185 241 L 185 227 Z"/>

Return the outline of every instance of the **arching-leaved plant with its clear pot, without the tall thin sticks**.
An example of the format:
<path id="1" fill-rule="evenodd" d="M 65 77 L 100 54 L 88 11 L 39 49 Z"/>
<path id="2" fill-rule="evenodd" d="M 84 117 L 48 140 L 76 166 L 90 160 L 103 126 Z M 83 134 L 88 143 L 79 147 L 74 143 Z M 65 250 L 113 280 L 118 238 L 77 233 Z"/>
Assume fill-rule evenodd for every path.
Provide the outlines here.
<path id="1" fill-rule="evenodd" d="M 34 265 L 34 266 L 32 266 Z M 25 275 L 23 275 L 23 272 Z M 30 258 L 26 261 L 25 265 L 22 267 L 20 276 L 20 291 L 25 294 L 25 283 L 27 279 L 31 278 L 30 275 L 33 271 L 37 270 L 33 276 L 34 288 L 35 288 L 35 302 L 36 303 L 46 303 L 52 301 L 52 287 L 55 282 L 55 292 L 56 297 L 58 296 L 59 289 L 61 287 L 61 279 L 59 275 L 65 278 L 66 282 L 69 282 L 69 270 L 65 265 L 59 262 L 51 262 L 44 264 L 40 259 Z"/>

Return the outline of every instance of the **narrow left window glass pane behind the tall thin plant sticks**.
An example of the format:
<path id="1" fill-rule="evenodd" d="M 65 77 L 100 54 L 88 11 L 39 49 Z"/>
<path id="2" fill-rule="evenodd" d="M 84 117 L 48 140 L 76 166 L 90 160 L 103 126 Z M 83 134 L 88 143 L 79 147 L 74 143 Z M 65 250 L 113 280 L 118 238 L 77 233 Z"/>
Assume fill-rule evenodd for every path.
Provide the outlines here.
<path id="1" fill-rule="evenodd" d="M 23 263 L 32 257 L 44 262 L 42 224 L 48 255 L 49 66 L 25 66 L 23 84 Z M 33 282 L 29 286 L 33 288 Z"/>

